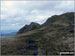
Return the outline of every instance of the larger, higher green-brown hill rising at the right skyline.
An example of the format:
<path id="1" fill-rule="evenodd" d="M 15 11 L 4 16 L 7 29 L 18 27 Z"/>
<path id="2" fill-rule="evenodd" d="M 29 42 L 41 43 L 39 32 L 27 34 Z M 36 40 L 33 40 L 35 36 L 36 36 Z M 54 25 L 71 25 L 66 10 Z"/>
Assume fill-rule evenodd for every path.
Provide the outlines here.
<path id="1" fill-rule="evenodd" d="M 48 18 L 48 20 L 43 25 L 47 26 L 50 24 L 74 24 L 74 12 L 69 12 L 62 15 L 54 15 L 51 18 Z"/>

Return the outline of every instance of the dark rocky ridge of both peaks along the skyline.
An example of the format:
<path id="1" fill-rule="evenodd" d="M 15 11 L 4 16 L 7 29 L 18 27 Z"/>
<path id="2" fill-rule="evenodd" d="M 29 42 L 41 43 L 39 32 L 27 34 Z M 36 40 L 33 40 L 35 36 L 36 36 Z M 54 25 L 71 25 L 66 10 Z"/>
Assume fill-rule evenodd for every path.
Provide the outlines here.
<path id="1" fill-rule="evenodd" d="M 70 14 L 72 14 L 72 15 L 69 16 Z M 72 19 L 70 19 L 70 18 L 72 18 Z M 18 31 L 17 34 L 25 33 L 25 31 L 26 32 L 32 31 L 32 30 L 38 29 L 43 26 L 48 26 L 50 24 L 68 26 L 70 24 L 74 24 L 73 18 L 74 18 L 74 12 L 68 12 L 68 13 L 64 13 L 61 15 L 54 15 L 52 17 L 49 17 L 47 19 L 47 21 L 45 23 L 43 23 L 42 25 L 35 23 L 35 22 L 31 22 L 30 25 L 25 25 Z"/>

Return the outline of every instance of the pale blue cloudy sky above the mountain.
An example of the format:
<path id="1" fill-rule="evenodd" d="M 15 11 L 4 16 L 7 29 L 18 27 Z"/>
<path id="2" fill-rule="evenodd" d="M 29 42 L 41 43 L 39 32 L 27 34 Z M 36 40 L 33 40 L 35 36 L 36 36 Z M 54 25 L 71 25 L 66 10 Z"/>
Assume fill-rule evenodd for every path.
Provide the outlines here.
<path id="1" fill-rule="evenodd" d="M 19 30 L 26 24 L 43 24 L 52 15 L 74 12 L 74 1 L 0 1 L 1 30 Z"/>

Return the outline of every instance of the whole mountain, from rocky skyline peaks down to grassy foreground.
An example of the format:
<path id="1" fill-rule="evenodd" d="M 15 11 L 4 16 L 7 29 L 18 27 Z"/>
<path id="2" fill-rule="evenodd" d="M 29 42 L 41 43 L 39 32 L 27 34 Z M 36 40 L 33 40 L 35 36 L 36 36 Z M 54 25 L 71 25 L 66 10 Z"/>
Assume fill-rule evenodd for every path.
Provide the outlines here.
<path id="1" fill-rule="evenodd" d="M 69 12 L 52 16 L 42 25 L 26 25 L 16 36 L 2 39 L 1 54 L 60 55 L 60 52 L 74 52 L 73 21 L 74 12 Z"/>

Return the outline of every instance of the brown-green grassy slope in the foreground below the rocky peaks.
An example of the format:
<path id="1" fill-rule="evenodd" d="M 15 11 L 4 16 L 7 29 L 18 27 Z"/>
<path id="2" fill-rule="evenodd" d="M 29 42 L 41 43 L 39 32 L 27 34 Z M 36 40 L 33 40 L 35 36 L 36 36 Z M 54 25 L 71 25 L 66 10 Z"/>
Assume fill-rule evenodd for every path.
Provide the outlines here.
<path id="1" fill-rule="evenodd" d="M 29 55 L 30 54 L 32 55 L 34 53 L 32 50 L 26 50 L 27 46 L 29 45 L 27 41 L 30 41 L 30 40 L 39 42 L 39 44 L 35 44 L 35 43 L 32 44 L 32 45 L 37 45 L 38 50 L 40 50 L 38 51 L 39 52 L 38 54 L 49 55 L 49 54 L 58 54 L 58 52 L 60 51 L 73 51 L 73 48 L 70 48 L 68 46 L 69 38 L 71 38 L 72 40 L 70 43 L 73 42 L 73 33 L 72 35 L 67 36 L 67 34 L 71 34 L 71 33 L 69 33 L 69 31 L 64 32 L 64 31 L 56 30 L 59 28 L 60 27 L 58 28 L 54 27 L 52 28 L 53 30 L 52 29 L 47 30 L 48 29 L 47 27 L 42 30 L 38 29 L 36 33 L 30 34 L 30 35 L 23 35 L 20 37 L 19 36 L 15 37 L 16 40 L 9 41 L 11 42 L 11 44 L 8 43 L 6 45 L 2 45 L 2 54 L 18 54 L 18 55 L 22 55 L 22 54 Z M 63 41 L 64 42 L 66 41 L 66 43 L 63 43 Z"/>

